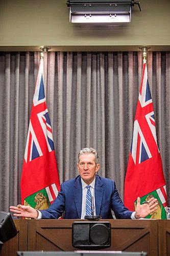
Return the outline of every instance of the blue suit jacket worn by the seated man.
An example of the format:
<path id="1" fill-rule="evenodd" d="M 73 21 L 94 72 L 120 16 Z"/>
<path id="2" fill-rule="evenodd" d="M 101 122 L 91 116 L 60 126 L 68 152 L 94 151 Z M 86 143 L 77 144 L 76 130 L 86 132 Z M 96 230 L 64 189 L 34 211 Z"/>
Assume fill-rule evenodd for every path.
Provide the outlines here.
<path id="1" fill-rule="evenodd" d="M 116 219 L 131 219 L 129 211 L 118 195 L 115 182 L 95 177 L 95 212 L 102 219 L 112 219 L 111 209 Z M 61 190 L 53 204 L 46 210 L 40 210 L 42 219 L 58 219 L 64 212 L 64 219 L 80 219 L 82 210 L 82 183 L 80 175 L 61 184 Z"/>

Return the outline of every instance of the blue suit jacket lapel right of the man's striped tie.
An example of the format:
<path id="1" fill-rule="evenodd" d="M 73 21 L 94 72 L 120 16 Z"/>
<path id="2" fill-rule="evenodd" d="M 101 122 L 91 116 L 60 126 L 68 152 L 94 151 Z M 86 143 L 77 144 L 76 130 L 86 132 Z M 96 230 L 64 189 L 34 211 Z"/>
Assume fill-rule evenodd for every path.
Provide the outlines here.
<path id="1" fill-rule="evenodd" d="M 98 175 L 95 176 L 95 188 L 94 188 L 94 196 L 95 196 L 95 213 L 96 215 L 99 215 L 101 205 L 102 205 L 102 199 L 103 199 L 103 183 L 101 182 Z"/>

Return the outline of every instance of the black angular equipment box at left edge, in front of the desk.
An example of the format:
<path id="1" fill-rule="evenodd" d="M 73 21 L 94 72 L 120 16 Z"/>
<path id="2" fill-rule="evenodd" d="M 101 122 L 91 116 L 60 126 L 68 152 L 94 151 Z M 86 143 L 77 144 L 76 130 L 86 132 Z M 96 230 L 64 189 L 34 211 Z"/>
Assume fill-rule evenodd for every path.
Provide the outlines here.
<path id="1" fill-rule="evenodd" d="M 0 211 L 0 241 L 6 242 L 15 237 L 17 230 L 9 212 Z"/>

